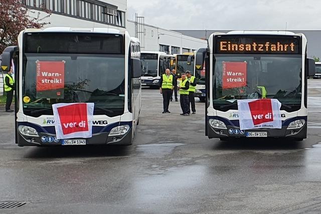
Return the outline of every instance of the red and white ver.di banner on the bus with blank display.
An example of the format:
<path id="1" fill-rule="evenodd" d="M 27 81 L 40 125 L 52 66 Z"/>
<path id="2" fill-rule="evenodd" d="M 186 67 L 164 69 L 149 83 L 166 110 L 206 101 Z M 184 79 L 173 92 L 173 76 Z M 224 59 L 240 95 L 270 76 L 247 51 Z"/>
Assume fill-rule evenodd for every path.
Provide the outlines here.
<path id="1" fill-rule="evenodd" d="M 92 137 L 94 103 L 52 105 L 57 139 Z"/>

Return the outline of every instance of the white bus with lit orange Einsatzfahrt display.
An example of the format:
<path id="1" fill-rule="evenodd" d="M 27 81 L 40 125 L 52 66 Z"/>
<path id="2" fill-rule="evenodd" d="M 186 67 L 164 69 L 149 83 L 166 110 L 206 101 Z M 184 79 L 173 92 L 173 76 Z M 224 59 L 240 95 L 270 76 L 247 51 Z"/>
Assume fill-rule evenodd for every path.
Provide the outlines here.
<path id="1" fill-rule="evenodd" d="M 203 65 L 204 59 L 206 65 L 206 135 L 222 140 L 235 137 L 306 138 L 307 77 L 314 76 L 315 72 L 314 60 L 307 58 L 306 44 L 303 34 L 290 32 L 212 34 L 209 48 L 200 49 L 196 58 L 197 67 Z M 257 100 L 264 98 L 280 102 L 280 115 L 274 115 L 280 118 L 280 127 L 255 126 L 240 130 L 244 115 L 239 114 L 238 100 L 240 103 L 241 100 L 253 100 L 257 104 Z M 259 121 L 252 110 L 260 112 L 263 107 L 255 108 L 250 109 L 252 116 L 248 119 L 254 125 Z M 271 117 L 265 118 L 271 121 Z"/>

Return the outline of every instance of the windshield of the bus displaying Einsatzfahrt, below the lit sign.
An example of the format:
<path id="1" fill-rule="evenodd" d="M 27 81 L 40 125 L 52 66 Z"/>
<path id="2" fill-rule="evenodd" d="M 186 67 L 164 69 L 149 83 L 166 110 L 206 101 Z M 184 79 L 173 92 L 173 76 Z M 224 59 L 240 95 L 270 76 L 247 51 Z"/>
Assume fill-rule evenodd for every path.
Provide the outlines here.
<path id="1" fill-rule="evenodd" d="M 288 112 L 300 109 L 300 55 L 217 54 L 214 63 L 215 109 L 236 110 L 239 99 L 261 98 L 278 99 Z"/>

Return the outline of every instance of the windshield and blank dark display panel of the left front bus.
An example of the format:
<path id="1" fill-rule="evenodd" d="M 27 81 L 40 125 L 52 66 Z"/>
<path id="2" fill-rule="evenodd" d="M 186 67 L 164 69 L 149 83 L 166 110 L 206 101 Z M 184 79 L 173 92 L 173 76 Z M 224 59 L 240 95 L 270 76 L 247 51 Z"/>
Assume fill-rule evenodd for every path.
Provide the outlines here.
<path id="1" fill-rule="evenodd" d="M 52 115 L 52 104 L 88 102 L 95 103 L 95 115 L 123 114 L 125 55 L 120 36 L 57 34 L 26 35 L 24 113 Z"/>

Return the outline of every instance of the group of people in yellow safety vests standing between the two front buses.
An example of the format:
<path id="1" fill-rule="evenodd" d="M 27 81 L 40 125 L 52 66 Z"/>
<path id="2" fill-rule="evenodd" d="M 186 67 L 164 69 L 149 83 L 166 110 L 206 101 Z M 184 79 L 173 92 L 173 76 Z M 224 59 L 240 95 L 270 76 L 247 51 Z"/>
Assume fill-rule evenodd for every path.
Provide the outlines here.
<path id="1" fill-rule="evenodd" d="M 178 85 L 178 79 L 180 78 L 181 81 Z M 181 115 L 190 116 L 191 109 L 192 114 L 196 114 L 194 98 L 196 79 L 191 75 L 190 71 L 186 71 L 186 73 L 178 75 L 175 69 L 172 70 L 172 73 L 170 69 L 166 69 L 165 74 L 161 76 L 159 91 L 161 94 L 163 94 L 163 114 L 171 113 L 169 111 L 169 106 L 170 102 L 173 101 L 173 94 L 175 95 L 175 101 L 178 102 L 178 89 L 180 94 L 181 108 L 183 111 Z"/>

